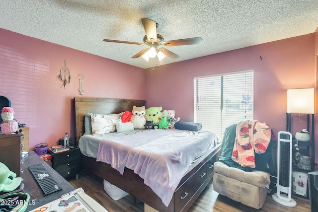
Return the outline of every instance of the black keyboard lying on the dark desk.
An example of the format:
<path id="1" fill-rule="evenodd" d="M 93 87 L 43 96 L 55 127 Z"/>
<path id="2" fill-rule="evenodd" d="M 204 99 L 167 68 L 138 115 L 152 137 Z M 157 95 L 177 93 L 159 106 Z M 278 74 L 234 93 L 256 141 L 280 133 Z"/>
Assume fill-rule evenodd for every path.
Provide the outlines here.
<path id="1" fill-rule="evenodd" d="M 53 179 L 42 164 L 31 165 L 29 166 L 29 170 L 45 196 L 62 190 L 62 187 Z"/>

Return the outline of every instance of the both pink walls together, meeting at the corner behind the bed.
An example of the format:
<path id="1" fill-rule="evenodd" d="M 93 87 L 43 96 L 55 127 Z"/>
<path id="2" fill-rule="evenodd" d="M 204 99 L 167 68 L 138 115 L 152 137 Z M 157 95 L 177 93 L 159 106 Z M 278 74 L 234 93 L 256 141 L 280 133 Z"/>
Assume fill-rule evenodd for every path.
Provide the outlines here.
<path id="1" fill-rule="evenodd" d="M 254 70 L 254 119 L 284 131 L 286 90 L 316 87 L 317 40 L 316 32 L 155 67 L 145 74 L 137 67 L 0 29 L 0 95 L 12 100 L 17 121 L 30 127 L 33 150 L 41 142 L 56 144 L 65 132 L 75 137 L 72 99 L 81 96 L 78 74 L 84 76 L 83 97 L 146 99 L 148 107 L 174 109 L 181 120 L 193 121 L 193 77 Z M 58 74 L 65 59 L 72 81 L 64 89 Z M 296 130 L 303 129 L 296 124 Z"/>

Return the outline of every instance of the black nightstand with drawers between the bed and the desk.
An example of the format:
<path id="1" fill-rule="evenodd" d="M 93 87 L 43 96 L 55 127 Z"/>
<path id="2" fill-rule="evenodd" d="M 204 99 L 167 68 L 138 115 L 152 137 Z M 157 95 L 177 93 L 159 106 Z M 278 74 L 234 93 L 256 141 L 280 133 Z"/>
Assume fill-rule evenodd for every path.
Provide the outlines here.
<path id="1" fill-rule="evenodd" d="M 52 155 L 52 168 L 54 168 L 54 170 L 57 171 L 62 177 L 69 178 L 76 175 L 76 179 L 79 179 L 79 147 L 58 153 L 53 153 L 51 150 L 49 150 L 48 153 Z"/>

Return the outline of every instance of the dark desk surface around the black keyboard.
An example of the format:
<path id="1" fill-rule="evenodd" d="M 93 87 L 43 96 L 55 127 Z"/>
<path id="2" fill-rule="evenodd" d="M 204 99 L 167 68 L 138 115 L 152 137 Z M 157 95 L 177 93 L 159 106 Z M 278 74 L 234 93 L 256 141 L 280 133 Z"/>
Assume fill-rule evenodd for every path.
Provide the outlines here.
<path id="1" fill-rule="evenodd" d="M 24 158 L 22 158 L 22 169 L 21 177 L 23 178 L 22 183 L 24 184 L 24 192 L 30 195 L 30 203 L 35 200 L 35 205 L 29 205 L 26 211 L 31 211 L 44 204 L 50 203 L 54 200 L 61 198 L 63 194 L 75 190 L 75 188 L 59 175 L 51 166 L 49 166 L 44 160 L 42 160 L 34 151 L 30 151 Z M 59 183 L 63 190 L 49 194 L 45 196 L 40 188 L 39 184 L 34 179 L 32 173 L 28 169 L 29 166 L 42 163 L 48 173 Z"/>

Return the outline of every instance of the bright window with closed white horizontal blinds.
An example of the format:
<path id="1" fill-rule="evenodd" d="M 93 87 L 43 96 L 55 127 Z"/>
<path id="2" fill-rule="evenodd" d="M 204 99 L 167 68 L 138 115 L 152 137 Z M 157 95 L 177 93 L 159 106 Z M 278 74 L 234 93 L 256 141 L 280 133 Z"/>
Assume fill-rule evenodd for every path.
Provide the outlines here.
<path id="1" fill-rule="evenodd" d="M 194 122 L 220 141 L 232 124 L 253 120 L 253 71 L 194 78 Z"/>

